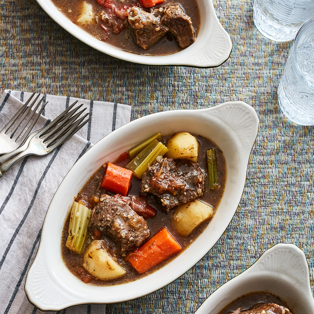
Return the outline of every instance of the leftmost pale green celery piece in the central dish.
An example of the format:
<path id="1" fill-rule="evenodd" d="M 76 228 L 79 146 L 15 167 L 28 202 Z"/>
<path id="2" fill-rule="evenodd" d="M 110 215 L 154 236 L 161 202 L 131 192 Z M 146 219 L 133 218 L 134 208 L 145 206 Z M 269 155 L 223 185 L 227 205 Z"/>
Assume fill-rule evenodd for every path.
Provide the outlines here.
<path id="1" fill-rule="evenodd" d="M 74 202 L 71 208 L 69 235 L 66 247 L 81 254 L 87 233 L 87 225 L 90 220 L 91 211 L 86 206 Z"/>

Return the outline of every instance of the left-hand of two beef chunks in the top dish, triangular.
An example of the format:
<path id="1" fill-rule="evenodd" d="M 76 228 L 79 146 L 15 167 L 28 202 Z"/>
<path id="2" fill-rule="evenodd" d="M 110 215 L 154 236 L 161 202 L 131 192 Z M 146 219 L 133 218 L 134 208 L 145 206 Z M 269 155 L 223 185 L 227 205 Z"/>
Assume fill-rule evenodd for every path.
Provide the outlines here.
<path id="1" fill-rule="evenodd" d="M 168 31 L 168 27 L 161 24 L 159 17 L 142 8 L 132 7 L 128 21 L 136 44 L 143 49 L 148 49 Z"/>

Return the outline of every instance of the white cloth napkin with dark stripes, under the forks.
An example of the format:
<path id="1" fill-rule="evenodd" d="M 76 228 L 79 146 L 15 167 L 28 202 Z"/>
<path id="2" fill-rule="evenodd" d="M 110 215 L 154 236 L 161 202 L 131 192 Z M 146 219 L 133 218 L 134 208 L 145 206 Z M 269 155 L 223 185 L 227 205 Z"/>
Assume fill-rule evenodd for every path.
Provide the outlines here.
<path id="1" fill-rule="evenodd" d="M 5 90 L 0 100 L 0 130 L 31 93 Z M 45 95 L 48 100 L 36 123 L 58 116 L 76 98 Z M 131 106 L 78 99 L 92 117 L 77 134 L 46 156 L 28 156 L 0 179 L 0 311 L 35 314 L 24 291 L 26 274 L 38 248 L 41 227 L 51 198 L 74 163 L 98 140 L 130 121 Z M 35 130 L 35 128 L 34 128 Z M 72 306 L 57 313 L 105 313 L 105 305 Z M 50 312 L 46 312 L 50 313 Z M 53 312 L 55 313 L 55 312 Z"/>

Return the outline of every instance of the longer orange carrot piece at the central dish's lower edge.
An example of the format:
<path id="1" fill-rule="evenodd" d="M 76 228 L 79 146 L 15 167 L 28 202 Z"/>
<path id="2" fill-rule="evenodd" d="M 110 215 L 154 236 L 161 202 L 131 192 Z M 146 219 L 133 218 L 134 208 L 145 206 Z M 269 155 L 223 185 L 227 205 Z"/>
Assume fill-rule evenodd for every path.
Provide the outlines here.
<path id="1" fill-rule="evenodd" d="M 142 246 L 135 249 L 128 261 L 138 273 L 144 273 L 180 250 L 180 244 L 164 227 Z"/>

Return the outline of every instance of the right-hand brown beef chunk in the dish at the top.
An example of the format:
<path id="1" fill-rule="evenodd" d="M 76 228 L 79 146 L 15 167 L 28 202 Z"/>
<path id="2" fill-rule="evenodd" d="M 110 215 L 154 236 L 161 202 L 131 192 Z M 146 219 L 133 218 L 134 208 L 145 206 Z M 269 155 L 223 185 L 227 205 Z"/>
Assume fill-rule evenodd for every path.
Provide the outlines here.
<path id="1" fill-rule="evenodd" d="M 181 48 L 192 45 L 195 41 L 195 31 L 192 20 L 185 14 L 179 4 L 166 6 L 163 11 L 161 23 L 169 28 L 172 35 L 176 37 Z"/>

